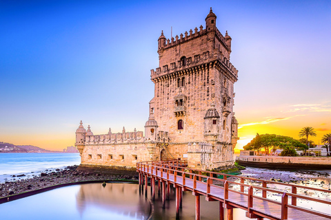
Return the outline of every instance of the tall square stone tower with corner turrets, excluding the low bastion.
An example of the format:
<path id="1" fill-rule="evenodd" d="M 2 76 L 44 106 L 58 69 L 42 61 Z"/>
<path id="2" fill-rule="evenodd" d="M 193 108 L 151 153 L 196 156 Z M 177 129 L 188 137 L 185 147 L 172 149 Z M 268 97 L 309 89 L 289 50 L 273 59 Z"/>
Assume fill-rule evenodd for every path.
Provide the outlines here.
<path id="1" fill-rule="evenodd" d="M 159 133 L 168 133 L 169 155 L 187 157 L 191 167 L 231 164 L 238 139 L 233 112 L 238 71 L 230 63 L 232 39 L 228 32 L 219 32 L 216 21 L 210 8 L 205 29 L 201 25 L 199 31 L 168 40 L 161 32 L 159 67 L 151 70 L 150 120 Z"/>

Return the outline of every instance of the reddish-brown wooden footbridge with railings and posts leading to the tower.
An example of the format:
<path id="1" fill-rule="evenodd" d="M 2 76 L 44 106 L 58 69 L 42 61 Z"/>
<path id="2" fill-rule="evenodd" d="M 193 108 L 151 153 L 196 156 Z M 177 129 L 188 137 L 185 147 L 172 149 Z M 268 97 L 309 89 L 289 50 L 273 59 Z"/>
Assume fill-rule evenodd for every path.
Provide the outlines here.
<path id="1" fill-rule="evenodd" d="M 224 219 L 226 215 L 228 220 L 232 220 L 233 208 L 245 210 L 246 217 L 250 219 L 331 219 L 331 214 L 297 205 L 297 198 L 331 205 L 331 201 L 298 194 L 297 189 L 299 188 L 328 193 L 328 197 L 331 193 L 330 190 L 194 170 L 187 167 L 186 161 L 180 160 L 139 162 L 137 172 L 139 173 L 139 185 L 141 187 L 145 185 L 145 192 L 147 192 L 148 177 L 150 177 L 153 199 L 156 181 L 158 181 L 159 190 L 162 185 L 163 208 L 165 208 L 165 199 L 168 199 L 170 195 L 170 184 L 173 184 L 176 188 L 176 219 L 179 219 L 183 191 L 192 191 L 196 198 L 196 219 L 200 219 L 201 195 L 205 196 L 207 201 L 219 201 L 219 219 Z M 223 179 L 217 178 L 219 175 L 223 175 Z M 248 181 L 254 182 L 254 185 L 245 184 Z M 288 186 L 291 188 L 291 192 L 268 188 L 268 184 L 269 186 L 272 184 L 276 188 Z M 281 201 L 270 194 L 281 195 Z"/>

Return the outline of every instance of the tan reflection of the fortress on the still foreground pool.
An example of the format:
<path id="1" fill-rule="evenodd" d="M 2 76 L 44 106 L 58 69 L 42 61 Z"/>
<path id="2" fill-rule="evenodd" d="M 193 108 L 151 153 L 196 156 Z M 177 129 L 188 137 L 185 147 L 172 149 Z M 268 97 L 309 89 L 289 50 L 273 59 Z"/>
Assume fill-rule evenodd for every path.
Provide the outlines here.
<path id="1" fill-rule="evenodd" d="M 93 214 L 91 211 L 95 208 L 117 214 L 121 219 L 148 219 L 151 212 L 150 201 L 139 195 L 137 184 L 109 183 L 105 187 L 102 184 L 83 184 L 76 201 L 77 210 L 84 218 Z"/>

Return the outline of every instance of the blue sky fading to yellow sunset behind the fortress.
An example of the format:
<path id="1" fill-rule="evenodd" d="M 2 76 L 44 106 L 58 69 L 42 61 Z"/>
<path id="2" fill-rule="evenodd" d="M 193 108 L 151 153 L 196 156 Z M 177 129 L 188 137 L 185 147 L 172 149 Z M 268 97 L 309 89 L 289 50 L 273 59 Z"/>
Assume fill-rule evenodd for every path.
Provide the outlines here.
<path id="1" fill-rule="evenodd" d="M 239 69 L 237 148 L 256 133 L 331 133 L 331 1 L 26 0 L 0 1 L 0 141 L 62 150 L 80 120 L 144 131 L 161 30 L 205 27 L 210 7 Z"/>

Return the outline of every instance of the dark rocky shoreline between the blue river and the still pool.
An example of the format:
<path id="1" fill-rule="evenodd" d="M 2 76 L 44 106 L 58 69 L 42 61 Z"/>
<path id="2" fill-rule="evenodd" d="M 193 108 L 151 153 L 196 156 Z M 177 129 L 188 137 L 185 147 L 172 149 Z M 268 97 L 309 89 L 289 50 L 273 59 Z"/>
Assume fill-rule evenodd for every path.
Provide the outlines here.
<path id="1" fill-rule="evenodd" d="M 0 198 L 17 195 L 22 192 L 31 192 L 59 184 L 68 184 L 80 181 L 103 181 L 103 180 L 130 180 L 137 181 L 137 177 L 129 175 L 111 175 L 105 173 L 91 173 L 89 171 L 77 170 L 78 166 L 67 166 L 55 171 L 46 170 L 38 176 L 28 179 L 15 179 L 0 184 Z M 49 172 L 47 172 L 49 171 Z M 17 175 L 12 177 L 24 177 Z"/>

